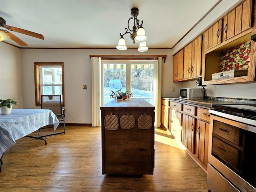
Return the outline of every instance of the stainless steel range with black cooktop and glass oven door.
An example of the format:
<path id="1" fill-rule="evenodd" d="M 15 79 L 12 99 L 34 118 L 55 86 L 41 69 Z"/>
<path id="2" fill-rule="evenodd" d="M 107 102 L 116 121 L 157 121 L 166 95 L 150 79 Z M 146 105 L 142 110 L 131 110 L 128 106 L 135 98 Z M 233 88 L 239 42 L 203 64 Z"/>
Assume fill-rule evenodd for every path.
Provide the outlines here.
<path id="1" fill-rule="evenodd" d="M 208 188 L 211 192 L 256 192 L 256 104 L 212 107 Z"/>

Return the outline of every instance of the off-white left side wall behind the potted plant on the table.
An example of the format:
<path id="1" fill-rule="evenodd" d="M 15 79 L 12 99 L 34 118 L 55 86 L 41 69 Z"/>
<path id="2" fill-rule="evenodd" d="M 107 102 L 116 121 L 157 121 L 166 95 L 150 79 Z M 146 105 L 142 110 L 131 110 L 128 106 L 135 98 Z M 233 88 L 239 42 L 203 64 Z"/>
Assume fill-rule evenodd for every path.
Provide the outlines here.
<path id="1" fill-rule="evenodd" d="M 0 42 L 0 99 L 14 98 L 23 108 L 20 49 Z"/>

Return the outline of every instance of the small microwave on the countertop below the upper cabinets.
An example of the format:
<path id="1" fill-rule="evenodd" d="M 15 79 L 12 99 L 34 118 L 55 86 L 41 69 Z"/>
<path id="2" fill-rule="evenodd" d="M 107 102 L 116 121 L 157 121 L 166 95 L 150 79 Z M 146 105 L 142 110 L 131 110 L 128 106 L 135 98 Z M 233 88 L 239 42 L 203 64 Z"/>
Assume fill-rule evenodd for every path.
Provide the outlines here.
<path id="1" fill-rule="evenodd" d="M 189 100 L 203 99 L 204 92 L 201 89 L 182 88 L 179 89 L 179 98 Z"/>

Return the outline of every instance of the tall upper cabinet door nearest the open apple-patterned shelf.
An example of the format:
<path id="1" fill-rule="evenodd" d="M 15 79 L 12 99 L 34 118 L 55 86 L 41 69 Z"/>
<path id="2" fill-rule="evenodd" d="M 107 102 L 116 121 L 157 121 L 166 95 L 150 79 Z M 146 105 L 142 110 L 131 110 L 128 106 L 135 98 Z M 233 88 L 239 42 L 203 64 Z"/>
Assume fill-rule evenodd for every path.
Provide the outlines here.
<path id="1" fill-rule="evenodd" d="M 201 75 L 202 35 L 192 42 L 191 77 Z"/>

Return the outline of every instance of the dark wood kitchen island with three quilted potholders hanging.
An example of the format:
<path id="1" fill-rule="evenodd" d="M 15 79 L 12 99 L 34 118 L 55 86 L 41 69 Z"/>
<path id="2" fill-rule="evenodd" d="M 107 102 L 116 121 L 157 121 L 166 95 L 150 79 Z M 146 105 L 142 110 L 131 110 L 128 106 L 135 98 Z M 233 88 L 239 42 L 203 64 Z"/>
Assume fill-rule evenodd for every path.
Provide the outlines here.
<path id="1" fill-rule="evenodd" d="M 143 99 L 100 107 L 102 174 L 153 175 L 154 109 Z"/>

